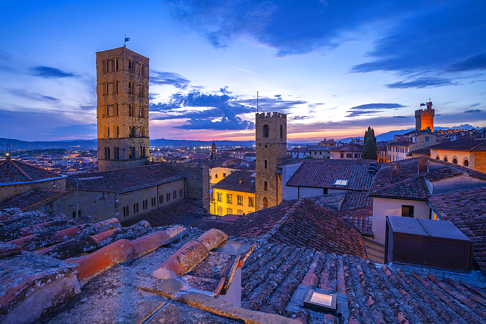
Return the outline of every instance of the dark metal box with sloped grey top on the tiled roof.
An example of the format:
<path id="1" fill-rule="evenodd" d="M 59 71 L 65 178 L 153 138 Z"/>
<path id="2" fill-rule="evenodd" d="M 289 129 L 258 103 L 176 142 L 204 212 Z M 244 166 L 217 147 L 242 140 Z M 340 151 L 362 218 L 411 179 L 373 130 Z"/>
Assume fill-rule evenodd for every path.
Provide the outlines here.
<path id="1" fill-rule="evenodd" d="M 471 271 L 472 241 L 451 222 L 387 216 L 385 263 Z"/>

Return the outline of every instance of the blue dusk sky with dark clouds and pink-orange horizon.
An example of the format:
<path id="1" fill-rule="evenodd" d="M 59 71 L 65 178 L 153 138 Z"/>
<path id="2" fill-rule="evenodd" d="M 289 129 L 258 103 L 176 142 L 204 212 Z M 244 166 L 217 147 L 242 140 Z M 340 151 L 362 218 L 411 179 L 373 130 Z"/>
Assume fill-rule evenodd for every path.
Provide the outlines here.
<path id="1" fill-rule="evenodd" d="M 0 137 L 96 138 L 96 51 L 150 58 L 150 137 L 288 140 L 486 122 L 486 1 L 14 1 L 0 11 Z"/>

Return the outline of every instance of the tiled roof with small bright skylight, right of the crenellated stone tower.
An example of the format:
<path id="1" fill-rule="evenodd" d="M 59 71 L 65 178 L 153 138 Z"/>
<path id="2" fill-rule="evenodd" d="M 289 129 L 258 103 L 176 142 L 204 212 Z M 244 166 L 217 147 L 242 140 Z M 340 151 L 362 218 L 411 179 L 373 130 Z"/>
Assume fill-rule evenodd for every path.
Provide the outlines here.
<path id="1" fill-rule="evenodd" d="M 295 171 L 287 186 L 367 191 L 373 181 L 373 175 L 368 173 L 369 165 L 369 160 L 354 160 L 354 163 L 304 163 Z M 376 165 L 380 168 L 381 163 Z M 336 179 L 349 180 L 348 185 L 335 186 Z"/>

